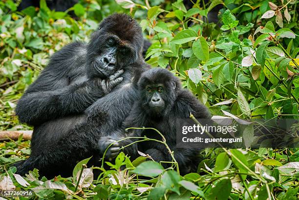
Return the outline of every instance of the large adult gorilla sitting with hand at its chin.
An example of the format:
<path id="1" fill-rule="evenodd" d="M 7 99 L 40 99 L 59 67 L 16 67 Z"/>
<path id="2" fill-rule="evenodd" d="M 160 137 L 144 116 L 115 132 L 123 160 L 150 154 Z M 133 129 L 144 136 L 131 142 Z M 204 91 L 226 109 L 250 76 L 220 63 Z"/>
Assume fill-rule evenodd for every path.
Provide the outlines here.
<path id="1" fill-rule="evenodd" d="M 114 14 L 88 44 L 74 42 L 54 54 L 17 105 L 20 121 L 34 125 L 31 156 L 16 164 L 18 174 L 37 168 L 47 177 L 68 176 L 78 160 L 98 159 L 98 140 L 121 126 L 149 68 L 142 45 L 138 23 Z"/>

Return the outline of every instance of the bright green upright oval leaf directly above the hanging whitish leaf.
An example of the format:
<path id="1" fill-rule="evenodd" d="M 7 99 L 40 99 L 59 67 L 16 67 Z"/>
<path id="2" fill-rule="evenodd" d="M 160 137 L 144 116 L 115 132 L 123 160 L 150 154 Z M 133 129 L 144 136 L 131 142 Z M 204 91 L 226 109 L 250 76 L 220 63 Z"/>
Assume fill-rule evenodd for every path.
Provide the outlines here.
<path id="1" fill-rule="evenodd" d="M 192 50 L 194 55 L 200 60 L 209 60 L 209 46 L 204 37 L 201 36 L 199 40 L 193 42 Z"/>

